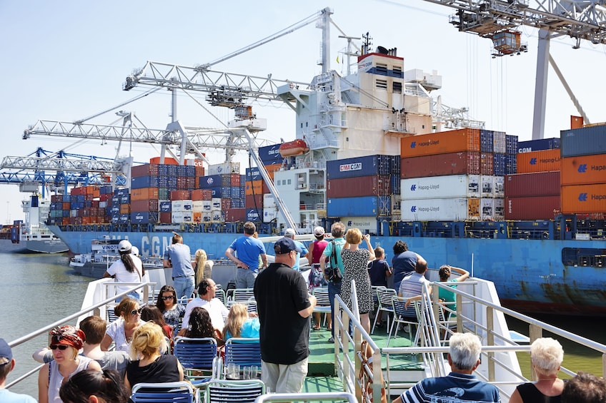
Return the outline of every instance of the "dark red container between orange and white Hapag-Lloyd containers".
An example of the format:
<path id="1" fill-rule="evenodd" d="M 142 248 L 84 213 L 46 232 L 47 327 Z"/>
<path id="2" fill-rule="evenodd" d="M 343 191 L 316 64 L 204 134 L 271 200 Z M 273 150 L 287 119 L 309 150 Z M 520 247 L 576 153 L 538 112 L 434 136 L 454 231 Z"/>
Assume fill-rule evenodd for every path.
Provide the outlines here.
<path id="1" fill-rule="evenodd" d="M 449 153 L 402 158 L 402 179 L 480 174 L 480 153 Z M 492 175 L 492 173 L 491 173 Z"/>

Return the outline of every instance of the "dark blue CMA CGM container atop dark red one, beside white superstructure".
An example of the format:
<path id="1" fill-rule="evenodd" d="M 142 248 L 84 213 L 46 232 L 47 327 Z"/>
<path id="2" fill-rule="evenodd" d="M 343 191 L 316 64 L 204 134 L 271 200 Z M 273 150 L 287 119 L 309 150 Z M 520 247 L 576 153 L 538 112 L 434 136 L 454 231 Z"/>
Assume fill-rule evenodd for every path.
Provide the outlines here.
<path id="1" fill-rule="evenodd" d="M 358 176 L 389 175 L 391 155 L 366 155 L 364 157 L 346 158 L 328 161 L 326 164 L 327 179 L 356 178 Z"/>

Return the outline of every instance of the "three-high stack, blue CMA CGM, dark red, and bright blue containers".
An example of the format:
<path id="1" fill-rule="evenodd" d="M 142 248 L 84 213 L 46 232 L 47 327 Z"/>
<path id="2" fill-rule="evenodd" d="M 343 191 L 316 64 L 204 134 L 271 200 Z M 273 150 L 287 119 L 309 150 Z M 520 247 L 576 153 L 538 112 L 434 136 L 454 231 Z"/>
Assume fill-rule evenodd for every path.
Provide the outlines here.
<path id="1" fill-rule="evenodd" d="M 327 162 L 327 215 L 349 218 L 392 215 L 392 155 L 367 155 Z"/>

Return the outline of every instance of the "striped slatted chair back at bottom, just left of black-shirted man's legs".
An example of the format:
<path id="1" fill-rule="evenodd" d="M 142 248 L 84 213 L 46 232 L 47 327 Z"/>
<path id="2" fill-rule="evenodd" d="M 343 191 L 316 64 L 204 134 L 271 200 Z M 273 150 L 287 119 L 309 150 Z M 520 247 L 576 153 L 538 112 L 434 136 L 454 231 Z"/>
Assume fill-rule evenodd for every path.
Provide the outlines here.
<path id="1" fill-rule="evenodd" d="M 259 379 L 212 379 L 207 384 L 205 401 L 206 403 L 252 403 L 264 393 L 265 385 Z"/>

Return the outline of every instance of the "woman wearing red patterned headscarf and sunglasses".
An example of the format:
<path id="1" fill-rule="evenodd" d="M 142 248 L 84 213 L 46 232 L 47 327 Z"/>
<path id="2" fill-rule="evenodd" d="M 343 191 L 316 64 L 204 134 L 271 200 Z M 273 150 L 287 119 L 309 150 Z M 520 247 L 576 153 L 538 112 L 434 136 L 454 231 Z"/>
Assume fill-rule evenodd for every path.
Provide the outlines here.
<path id="1" fill-rule="evenodd" d="M 61 403 L 59 389 L 64 379 L 84 369 L 101 371 L 99 362 L 79 355 L 84 332 L 74 326 L 55 327 L 49 332 L 54 360 L 45 364 L 38 374 L 38 402 Z"/>

